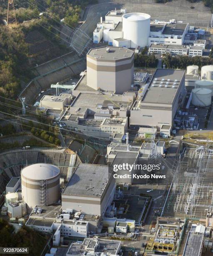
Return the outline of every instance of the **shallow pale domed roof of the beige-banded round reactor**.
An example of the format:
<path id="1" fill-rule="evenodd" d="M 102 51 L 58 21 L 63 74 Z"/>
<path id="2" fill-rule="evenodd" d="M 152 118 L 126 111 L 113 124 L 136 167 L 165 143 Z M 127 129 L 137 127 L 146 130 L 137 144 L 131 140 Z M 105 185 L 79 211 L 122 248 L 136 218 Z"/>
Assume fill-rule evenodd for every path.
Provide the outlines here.
<path id="1" fill-rule="evenodd" d="M 21 171 L 21 175 L 26 179 L 50 179 L 60 173 L 58 167 L 52 164 L 32 164 Z"/>

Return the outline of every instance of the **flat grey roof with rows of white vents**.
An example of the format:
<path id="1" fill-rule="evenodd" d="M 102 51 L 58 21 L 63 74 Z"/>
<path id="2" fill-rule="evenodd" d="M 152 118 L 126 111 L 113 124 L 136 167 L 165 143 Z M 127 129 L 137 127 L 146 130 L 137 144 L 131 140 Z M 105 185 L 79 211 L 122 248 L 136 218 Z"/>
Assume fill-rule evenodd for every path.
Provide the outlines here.
<path id="1" fill-rule="evenodd" d="M 148 88 L 149 90 L 146 91 L 145 96 L 141 102 L 141 107 L 143 107 L 143 102 L 172 104 L 184 74 L 185 70 L 156 69 L 155 74 L 153 75 L 153 78 L 150 82 L 150 86 Z M 164 79 L 163 85 L 162 87 L 159 87 L 162 79 Z M 167 79 L 170 79 L 170 82 L 168 86 L 165 87 Z M 153 84 L 154 81 L 156 84 L 154 84 L 154 87 L 152 87 L 151 84 Z M 172 87 L 174 82 L 176 83 L 175 88 Z"/>

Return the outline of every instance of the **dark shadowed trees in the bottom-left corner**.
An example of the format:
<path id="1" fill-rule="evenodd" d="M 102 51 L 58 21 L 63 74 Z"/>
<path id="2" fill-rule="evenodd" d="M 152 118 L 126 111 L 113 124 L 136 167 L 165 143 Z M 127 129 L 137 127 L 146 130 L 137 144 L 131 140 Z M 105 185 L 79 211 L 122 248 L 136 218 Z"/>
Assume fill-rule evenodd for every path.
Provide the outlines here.
<path id="1" fill-rule="evenodd" d="M 41 254 L 46 244 L 44 236 L 26 226 L 22 226 L 17 233 L 13 231 L 13 226 L 0 218 L 0 247 L 29 247 L 29 255 Z"/>

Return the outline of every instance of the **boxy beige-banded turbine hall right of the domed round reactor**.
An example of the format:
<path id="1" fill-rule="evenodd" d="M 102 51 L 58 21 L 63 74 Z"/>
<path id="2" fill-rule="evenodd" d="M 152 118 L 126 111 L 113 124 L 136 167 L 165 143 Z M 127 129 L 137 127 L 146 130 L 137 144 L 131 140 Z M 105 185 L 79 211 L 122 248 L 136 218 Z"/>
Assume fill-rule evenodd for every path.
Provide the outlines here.
<path id="1" fill-rule="evenodd" d="M 72 208 L 83 214 L 102 215 L 111 204 L 115 181 L 108 166 L 78 164 L 62 193 L 62 210 Z"/>

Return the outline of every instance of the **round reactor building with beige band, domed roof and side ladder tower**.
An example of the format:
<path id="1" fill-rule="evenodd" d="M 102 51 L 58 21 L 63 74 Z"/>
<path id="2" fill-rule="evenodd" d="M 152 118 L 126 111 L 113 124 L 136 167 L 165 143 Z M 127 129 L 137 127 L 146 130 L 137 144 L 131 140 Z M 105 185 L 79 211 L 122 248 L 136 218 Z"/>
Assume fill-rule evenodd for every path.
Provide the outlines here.
<path id="1" fill-rule="evenodd" d="M 60 198 L 60 170 L 52 164 L 32 164 L 22 169 L 21 185 L 28 208 L 51 205 Z"/>

